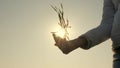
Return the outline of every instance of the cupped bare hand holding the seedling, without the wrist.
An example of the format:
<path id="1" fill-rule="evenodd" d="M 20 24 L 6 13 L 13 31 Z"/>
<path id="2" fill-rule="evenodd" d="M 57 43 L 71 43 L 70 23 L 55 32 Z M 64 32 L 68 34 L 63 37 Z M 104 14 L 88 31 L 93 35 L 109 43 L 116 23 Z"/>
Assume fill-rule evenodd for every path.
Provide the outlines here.
<path id="1" fill-rule="evenodd" d="M 55 46 L 57 46 L 64 54 L 68 54 L 71 51 L 79 48 L 79 45 L 74 44 L 74 40 L 67 41 L 65 38 L 56 36 L 55 33 L 52 34 L 55 40 Z"/>

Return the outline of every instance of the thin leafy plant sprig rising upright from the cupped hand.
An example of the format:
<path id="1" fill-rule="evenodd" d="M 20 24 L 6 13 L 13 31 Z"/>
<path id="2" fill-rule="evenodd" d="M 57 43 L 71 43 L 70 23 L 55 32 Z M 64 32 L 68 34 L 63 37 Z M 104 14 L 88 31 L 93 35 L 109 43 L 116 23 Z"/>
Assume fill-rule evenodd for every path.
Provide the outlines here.
<path id="1" fill-rule="evenodd" d="M 64 38 L 66 40 L 69 40 L 69 32 L 68 32 L 68 28 L 71 28 L 71 26 L 69 26 L 69 20 L 68 19 L 64 19 L 64 11 L 63 11 L 63 5 L 60 4 L 60 8 L 51 5 L 51 7 L 55 10 L 55 12 L 57 12 L 58 17 L 59 17 L 59 25 L 61 26 L 61 29 L 64 30 L 65 35 Z"/>

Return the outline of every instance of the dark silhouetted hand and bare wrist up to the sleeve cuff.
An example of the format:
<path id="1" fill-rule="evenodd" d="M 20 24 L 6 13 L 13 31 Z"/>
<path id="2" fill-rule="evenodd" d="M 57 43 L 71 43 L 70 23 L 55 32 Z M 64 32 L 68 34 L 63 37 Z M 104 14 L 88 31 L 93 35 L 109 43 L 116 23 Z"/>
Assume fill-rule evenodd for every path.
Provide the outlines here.
<path id="1" fill-rule="evenodd" d="M 68 54 L 79 47 L 85 50 L 90 48 L 90 46 L 88 46 L 87 39 L 82 36 L 68 41 L 65 38 L 57 36 L 55 33 L 52 33 L 52 35 L 56 42 L 55 46 L 57 46 L 64 54 Z"/>

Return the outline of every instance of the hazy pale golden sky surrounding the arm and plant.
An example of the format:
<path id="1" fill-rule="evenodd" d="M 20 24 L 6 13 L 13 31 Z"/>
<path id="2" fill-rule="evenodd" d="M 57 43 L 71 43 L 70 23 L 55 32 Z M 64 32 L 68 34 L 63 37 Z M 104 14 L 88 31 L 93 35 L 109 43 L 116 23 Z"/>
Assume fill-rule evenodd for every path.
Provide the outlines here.
<path id="1" fill-rule="evenodd" d="M 112 68 L 111 40 L 64 55 L 51 32 L 58 17 L 50 5 L 63 3 L 70 39 L 97 27 L 103 0 L 0 0 L 0 68 Z"/>

